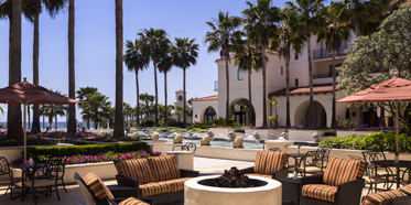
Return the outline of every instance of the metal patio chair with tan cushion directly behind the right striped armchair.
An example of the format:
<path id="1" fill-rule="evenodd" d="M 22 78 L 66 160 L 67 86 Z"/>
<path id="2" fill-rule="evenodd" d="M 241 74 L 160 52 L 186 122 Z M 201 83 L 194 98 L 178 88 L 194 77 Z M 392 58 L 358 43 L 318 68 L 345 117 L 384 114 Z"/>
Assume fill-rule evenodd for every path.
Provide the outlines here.
<path id="1" fill-rule="evenodd" d="M 318 174 L 324 171 L 324 157 L 328 150 L 317 149 L 316 151 L 307 151 L 304 159 L 300 161 L 299 171 L 303 176 L 306 174 Z"/>

